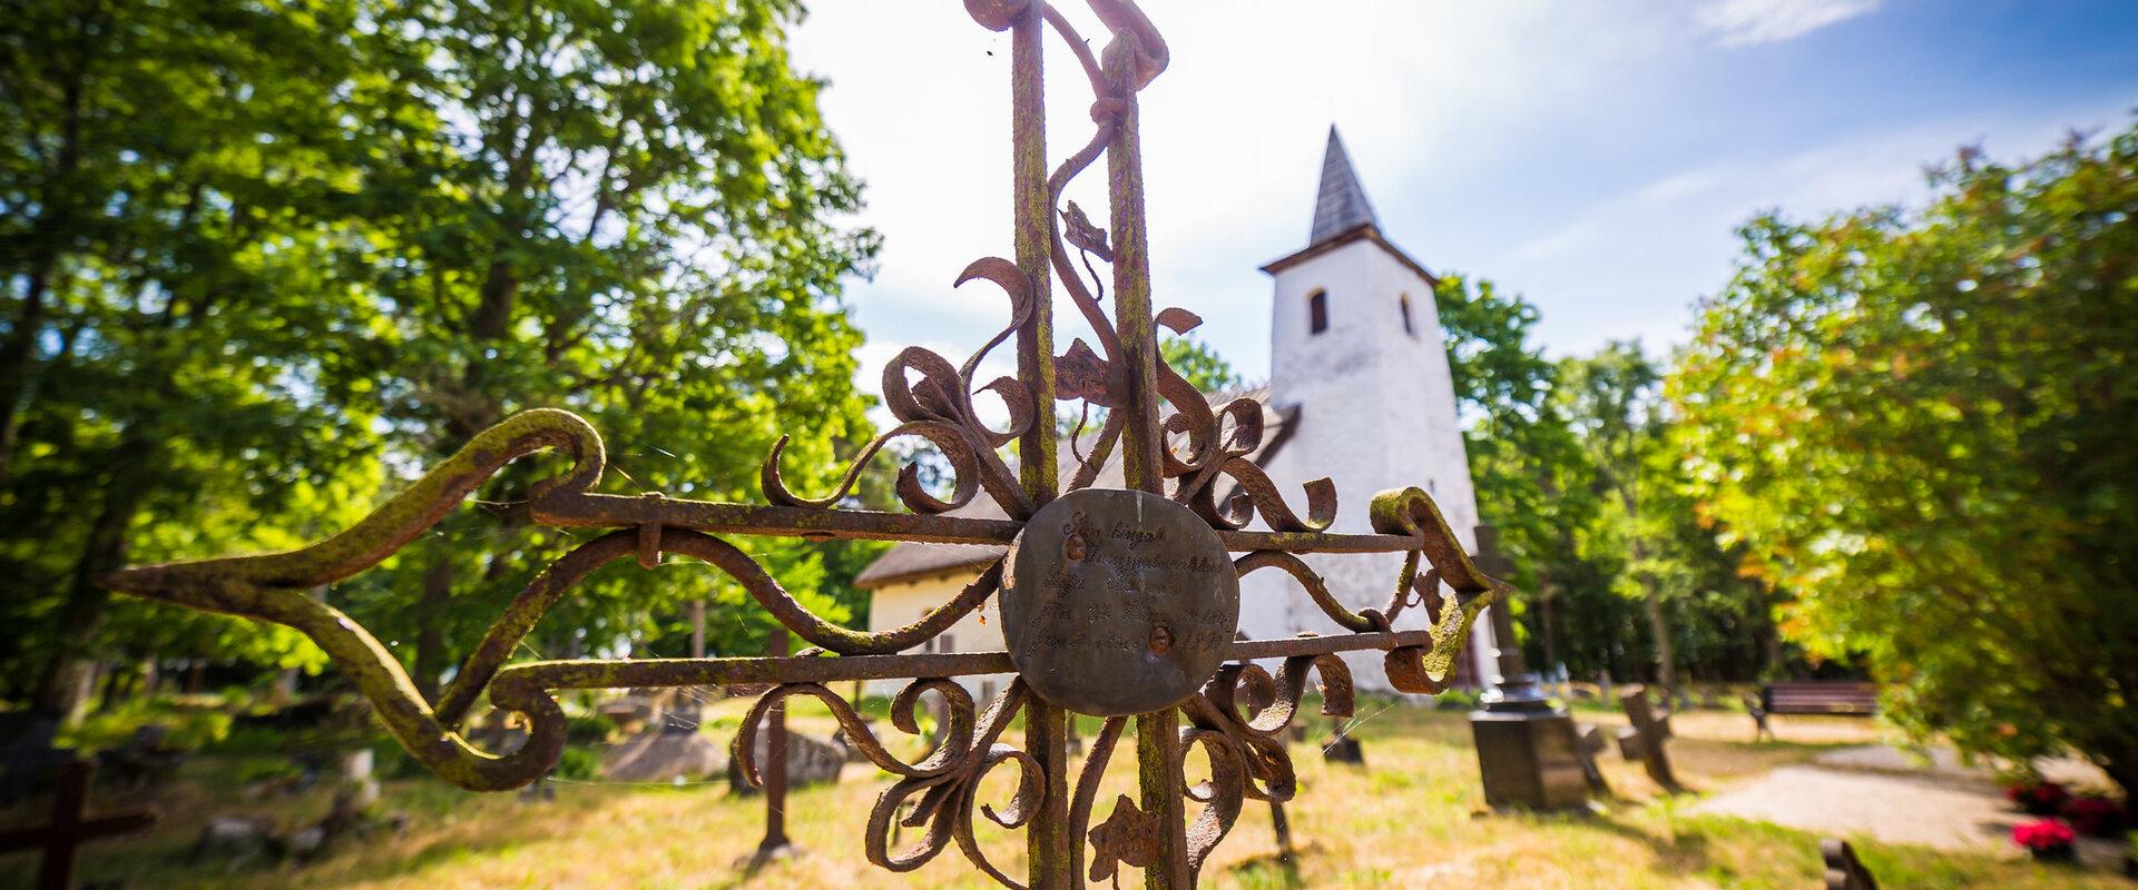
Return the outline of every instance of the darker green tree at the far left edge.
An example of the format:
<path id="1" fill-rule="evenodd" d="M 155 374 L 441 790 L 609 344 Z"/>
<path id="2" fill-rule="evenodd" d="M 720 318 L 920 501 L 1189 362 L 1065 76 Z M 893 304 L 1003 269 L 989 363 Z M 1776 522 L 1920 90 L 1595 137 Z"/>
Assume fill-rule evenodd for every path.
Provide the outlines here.
<path id="1" fill-rule="evenodd" d="M 346 403 L 385 352 L 351 339 L 378 307 L 334 280 L 361 254 L 366 145 L 336 111 L 357 34 L 346 2 L 0 17 L 0 649 L 43 711 L 81 700 L 103 572 L 259 542 L 222 510 L 274 521 L 304 491 L 361 487 L 346 467 L 376 438 Z"/>

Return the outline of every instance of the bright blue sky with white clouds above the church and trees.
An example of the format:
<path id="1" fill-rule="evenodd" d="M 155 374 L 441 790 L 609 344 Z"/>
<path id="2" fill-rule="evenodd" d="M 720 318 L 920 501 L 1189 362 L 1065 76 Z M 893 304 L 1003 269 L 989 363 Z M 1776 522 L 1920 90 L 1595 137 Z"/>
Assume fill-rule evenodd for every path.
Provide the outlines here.
<path id="1" fill-rule="evenodd" d="M 1082 4 L 1056 4 L 1103 43 Z M 1381 231 L 1435 273 L 1524 295 L 1563 356 L 1685 341 L 1693 301 L 1730 280 L 1732 228 L 1762 209 L 1920 205 L 1924 164 L 1961 145 L 2025 158 L 2138 109 L 2138 2 L 2121 0 L 1144 9 L 1172 49 L 1142 94 L 1155 299 L 1199 314 L 1251 380 L 1270 361 L 1257 269 L 1306 245 L 1330 124 Z M 988 284 L 951 288 L 1011 256 L 1007 34 L 949 0 L 819 0 L 793 55 L 830 81 L 823 113 L 868 184 L 853 222 L 885 239 L 847 288 L 862 384 L 904 346 L 962 361 L 1007 322 Z M 1088 137 L 1090 94 L 1052 34 L 1048 68 L 1052 166 Z M 1103 222 L 1103 160 L 1082 184 Z"/>

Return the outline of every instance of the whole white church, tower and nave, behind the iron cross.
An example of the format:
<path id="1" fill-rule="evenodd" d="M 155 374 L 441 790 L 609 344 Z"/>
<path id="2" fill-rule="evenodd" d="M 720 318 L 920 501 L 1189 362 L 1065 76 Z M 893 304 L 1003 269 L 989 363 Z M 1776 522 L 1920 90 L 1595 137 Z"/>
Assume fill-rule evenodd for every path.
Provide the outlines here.
<path id="1" fill-rule="evenodd" d="M 1270 382 L 1249 393 L 1261 399 L 1268 425 L 1255 463 L 1270 474 L 1293 510 L 1306 508 L 1302 487 L 1308 480 L 1332 478 L 1338 508 L 1330 531 L 1338 534 L 1373 531 L 1366 506 L 1375 493 L 1422 487 L 1465 549 L 1475 551 L 1477 499 L 1456 420 L 1447 346 L 1432 303 L 1437 280 L 1381 233 L 1336 128 L 1330 128 L 1321 160 L 1321 188 L 1306 245 L 1261 271 L 1272 277 L 1274 299 Z M 1212 401 L 1223 403 L 1231 395 L 1236 393 Z M 1118 459 L 1097 484 L 1120 487 Z M 1227 480 L 1219 484 L 1223 497 Z M 958 512 L 1001 514 L 986 497 L 975 497 Z M 917 621 L 1001 555 L 1001 546 L 979 544 L 894 546 L 855 578 L 857 587 L 870 591 L 868 630 Z M 1304 559 L 1328 581 L 1330 593 L 1353 610 L 1388 606 L 1403 570 L 1400 553 Z M 990 600 L 924 651 L 1001 651 L 998 619 L 1001 608 Z M 1396 627 L 1426 627 L 1424 610 L 1405 610 Z M 1341 634 L 1343 627 L 1289 574 L 1259 570 L 1240 578 L 1240 632 L 1272 640 Z M 1479 677 L 1492 677 L 1490 657 L 1490 621 L 1477 621 L 1458 666 L 1458 685 L 1475 687 Z M 1347 653 L 1345 662 L 1360 689 L 1390 689 L 1379 651 Z M 966 687 L 977 696 L 992 696 L 1007 681 L 1007 674 L 966 679 Z M 872 689 L 889 692 L 894 689 Z"/>

